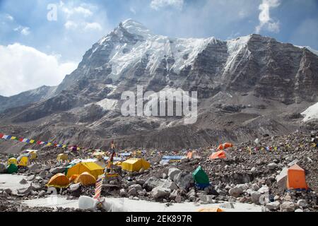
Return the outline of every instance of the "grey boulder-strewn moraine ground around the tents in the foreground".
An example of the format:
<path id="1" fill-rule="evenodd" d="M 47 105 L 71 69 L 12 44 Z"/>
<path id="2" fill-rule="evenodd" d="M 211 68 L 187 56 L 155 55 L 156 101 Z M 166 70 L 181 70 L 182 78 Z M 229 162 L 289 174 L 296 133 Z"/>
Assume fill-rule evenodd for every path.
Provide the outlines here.
<path id="1" fill-rule="evenodd" d="M 196 149 L 198 158 L 181 162 L 160 164 L 163 155 L 186 155 L 189 150 L 147 150 L 143 158 L 151 168 L 141 172 L 122 172 L 121 177 L 105 180 L 101 196 L 107 198 L 126 197 L 131 201 L 162 203 L 167 208 L 189 203 L 200 206 L 218 204 L 225 210 L 240 204 L 253 204 L 262 211 L 317 211 L 318 192 L 318 148 L 312 137 L 317 132 L 295 132 L 285 136 L 264 137 L 259 142 L 250 141 L 227 150 L 225 160 L 210 160 L 208 157 L 216 147 Z M 271 150 L 266 150 L 271 147 Z M 45 184 L 66 165 L 57 163 L 58 148 L 43 148 L 37 160 L 29 167 L 19 169 L 18 174 L 0 174 L 0 211 L 83 211 L 78 208 L 31 207 L 25 201 L 49 198 Z M 2 162 L 9 154 L 0 154 Z M 85 150 L 69 153 L 69 159 L 91 157 Z M 284 191 L 276 177 L 284 167 L 297 163 L 305 169 L 310 191 Z M 194 186 L 192 172 L 201 165 L 211 181 L 211 186 L 199 190 Z M 177 177 L 176 177 L 177 176 Z M 15 177 L 15 181 L 9 178 Z M 67 200 L 94 194 L 95 186 L 72 184 L 68 189 L 57 189 Z M 244 208 L 244 206 L 242 206 Z M 242 210 L 242 209 L 241 209 Z M 99 209 L 98 211 L 109 211 Z M 145 210 L 146 211 L 146 210 Z"/>

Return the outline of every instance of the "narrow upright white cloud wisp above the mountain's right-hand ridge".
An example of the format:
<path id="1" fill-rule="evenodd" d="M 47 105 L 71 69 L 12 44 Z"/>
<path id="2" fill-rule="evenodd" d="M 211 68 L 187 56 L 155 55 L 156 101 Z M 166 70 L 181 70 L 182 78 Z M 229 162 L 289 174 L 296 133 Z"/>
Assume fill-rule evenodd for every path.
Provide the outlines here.
<path id="1" fill-rule="evenodd" d="M 270 15 L 271 8 L 276 8 L 281 4 L 280 0 L 263 0 L 259 5 L 259 25 L 255 28 L 255 32 L 259 33 L 265 28 L 270 32 L 279 32 L 279 21 L 273 20 Z"/>

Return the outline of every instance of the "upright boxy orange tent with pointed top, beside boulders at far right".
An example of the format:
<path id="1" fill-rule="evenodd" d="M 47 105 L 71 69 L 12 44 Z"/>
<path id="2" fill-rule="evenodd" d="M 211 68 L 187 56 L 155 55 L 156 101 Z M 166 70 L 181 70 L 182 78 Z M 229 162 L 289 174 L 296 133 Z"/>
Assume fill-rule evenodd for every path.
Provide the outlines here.
<path id="1" fill-rule="evenodd" d="M 287 188 L 288 189 L 308 189 L 305 170 L 295 164 L 288 169 L 287 172 Z"/>

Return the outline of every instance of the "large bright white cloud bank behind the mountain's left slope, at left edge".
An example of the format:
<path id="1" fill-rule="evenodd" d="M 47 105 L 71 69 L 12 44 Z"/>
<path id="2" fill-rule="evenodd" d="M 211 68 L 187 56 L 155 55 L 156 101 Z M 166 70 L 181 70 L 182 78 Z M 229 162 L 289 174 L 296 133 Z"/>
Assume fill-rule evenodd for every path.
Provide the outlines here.
<path id="1" fill-rule="evenodd" d="M 58 85 L 76 69 L 74 62 L 61 63 L 59 56 L 19 43 L 0 45 L 0 95 L 16 95 L 42 85 Z"/>

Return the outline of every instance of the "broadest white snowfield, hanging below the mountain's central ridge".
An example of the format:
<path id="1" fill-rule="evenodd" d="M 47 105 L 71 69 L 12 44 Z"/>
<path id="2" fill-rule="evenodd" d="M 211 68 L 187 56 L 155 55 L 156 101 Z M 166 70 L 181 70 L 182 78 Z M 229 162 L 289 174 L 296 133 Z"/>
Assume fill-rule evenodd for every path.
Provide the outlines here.
<path id="1" fill-rule="evenodd" d="M 147 56 L 149 61 L 146 69 L 150 73 L 154 73 L 160 62 L 168 57 L 175 59 L 175 64 L 167 64 L 167 70 L 173 69 L 175 73 L 179 73 L 184 66 L 191 65 L 197 55 L 206 49 L 213 40 L 215 41 L 216 38 L 177 39 L 153 35 L 136 44 L 117 43 L 110 55 L 110 64 L 112 65 L 110 78 L 116 81 L 119 75 Z"/>

